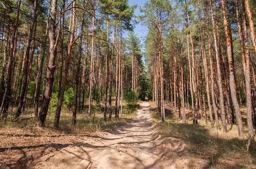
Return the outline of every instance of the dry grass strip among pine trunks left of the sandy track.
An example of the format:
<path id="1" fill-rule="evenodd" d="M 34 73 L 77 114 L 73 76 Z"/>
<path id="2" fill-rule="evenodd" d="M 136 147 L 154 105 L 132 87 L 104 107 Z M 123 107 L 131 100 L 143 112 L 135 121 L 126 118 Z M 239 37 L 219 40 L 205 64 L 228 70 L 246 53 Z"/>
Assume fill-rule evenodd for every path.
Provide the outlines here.
<path id="1" fill-rule="evenodd" d="M 113 131 L 117 126 L 126 124 L 133 117 L 135 117 L 137 112 L 137 106 L 128 106 L 123 105 L 122 115 L 121 115 L 121 106 L 120 106 L 120 118 L 114 117 L 114 106 L 112 106 L 112 119 L 107 118 L 107 121 L 104 121 L 104 107 L 99 110 L 99 106 L 92 106 L 92 115 L 89 116 L 87 113 L 87 106 L 84 110 L 77 111 L 76 124 L 72 124 L 72 109 L 62 108 L 61 117 L 59 119 L 59 128 L 55 130 L 53 128 L 54 116 L 56 107 L 52 106 L 48 110 L 48 115 L 46 118 L 44 130 L 39 130 L 37 127 L 37 121 L 33 118 L 34 109 L 26 109 L 18 121 L 14 121 L 15 110 L 11 111 L 12 113 L 8 114 L 7 118 L 0 119 L 0 128 L 1 127 L 15 127 L 21 128 L 23 130 L 28 130 L 39 135 L 57 135 L 57 134 L 82 134 L 82 133 L 91 133 L 99 131 Z M 109 114 L 107 114 L 107 117 Z M 43 133 L 42 133 L 43 132 Z"/>

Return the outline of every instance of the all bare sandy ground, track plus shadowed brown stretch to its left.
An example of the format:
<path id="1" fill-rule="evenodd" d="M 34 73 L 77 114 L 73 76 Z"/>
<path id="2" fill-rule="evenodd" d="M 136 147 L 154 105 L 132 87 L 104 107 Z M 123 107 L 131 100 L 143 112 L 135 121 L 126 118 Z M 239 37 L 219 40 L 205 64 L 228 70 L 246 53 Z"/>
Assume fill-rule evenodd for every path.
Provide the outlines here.
<path id="1" fill-rule="evenodd" d="M 190 153 L 190 148 L 184 141 L 158 134 L 151 122 L 150 104 L 140 102 L 137 117 L 113 132 L 45 136 L 42 141 L 37 135 L 24 135 L 15 131 L 19 140 L 15 144 L 10 140 L 8 148 L 1 144 L 0 164 L 11 168 L 210 167 L 210 161 Z M 3 128 L 1 136 L 8 136 L 8 132 L 11 135 L 10 128 L 8 131 Z M 3 139 L 5 138 L 2 137 L 1 140 Z M 29 145 L 31 140 L 35 145 Z M 19 154 L 19 158 L 16 158 L 15 165 L 8 166 L 8 162 L 11 163 L 10 159 L 15 159 L 13 156 L 16 154 Z"/>

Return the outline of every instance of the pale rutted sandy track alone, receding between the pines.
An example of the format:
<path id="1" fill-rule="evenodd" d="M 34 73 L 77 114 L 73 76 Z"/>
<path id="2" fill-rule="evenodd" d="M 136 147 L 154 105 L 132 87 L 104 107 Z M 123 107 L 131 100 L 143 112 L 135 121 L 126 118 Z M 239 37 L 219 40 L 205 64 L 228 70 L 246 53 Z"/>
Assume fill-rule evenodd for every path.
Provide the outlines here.
<path id="1" fill-rule="evenodd" d="M 187 158 L 187 145 L 182 140 L 166 140 L 157 134 L 151 126 L 149 108 L 148 102 L 142 102 L 138 116 L 131 123 L 112 134 L 101 132 L 85 137 L 80 143 L 37 159 L 28 168 L 189 167 L 191 160 Z M 186 159 L 183 154 L 186 154 Z"/>

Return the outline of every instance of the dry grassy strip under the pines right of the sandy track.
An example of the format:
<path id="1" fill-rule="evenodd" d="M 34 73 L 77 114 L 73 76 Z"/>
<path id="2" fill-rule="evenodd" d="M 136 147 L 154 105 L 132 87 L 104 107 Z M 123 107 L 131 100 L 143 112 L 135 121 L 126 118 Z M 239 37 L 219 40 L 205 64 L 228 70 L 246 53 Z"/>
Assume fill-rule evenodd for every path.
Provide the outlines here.
<path id="1" fill-rule="evenodd" d="M 238 136 L 235 124 L 227 124 L 228 132 L 224 133 L 211 128 L 210 122 L 206 124 L 204 119 L 199 119 L 199 124 L 193 124 L 193 119 L 187 117 L 185 124 L 178 118 L 178 113 L 169 110 L 165 111 L 166 121 L 163 123 L 153 101 L 150 101 L 150 107 L 152 123 L 157 132 L 184 140 L 189 145 L 190 152 L 209 159 L 212 168 L 256 168 L 256 144 L 251 143 L 248 149 L 247 137 Z M 188 110 L 186 114 L 188 116 Z M 245 125 L 244 130 L 247 134 L 248 128 Z"/>

